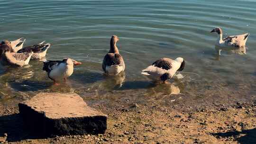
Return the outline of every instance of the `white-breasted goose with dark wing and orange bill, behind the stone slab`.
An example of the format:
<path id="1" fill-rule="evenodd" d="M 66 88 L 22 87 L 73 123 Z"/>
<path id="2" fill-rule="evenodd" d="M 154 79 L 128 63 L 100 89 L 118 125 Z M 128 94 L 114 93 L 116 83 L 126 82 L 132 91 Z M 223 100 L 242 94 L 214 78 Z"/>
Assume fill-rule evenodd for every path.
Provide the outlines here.
<path id="1" fill-rule="evenodd" d="M 43 70 L 47 72 L 48 77 L 54 81 L 54 85 L 59 85 L 57 81 L 67 80 L 73 74 L 74 66 L 82 64 L 71 58 L 64 58 L 62 61 L 46 61 Z"/>

